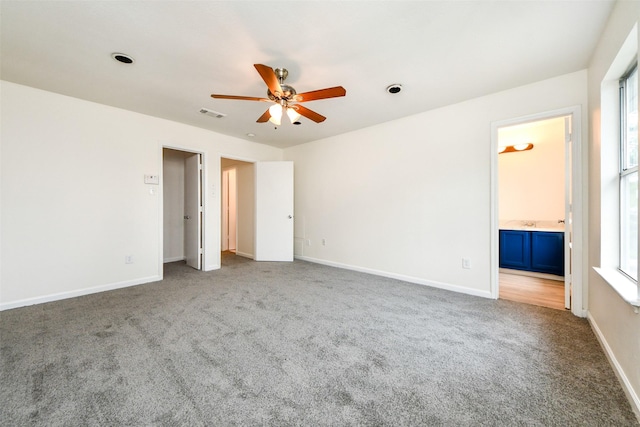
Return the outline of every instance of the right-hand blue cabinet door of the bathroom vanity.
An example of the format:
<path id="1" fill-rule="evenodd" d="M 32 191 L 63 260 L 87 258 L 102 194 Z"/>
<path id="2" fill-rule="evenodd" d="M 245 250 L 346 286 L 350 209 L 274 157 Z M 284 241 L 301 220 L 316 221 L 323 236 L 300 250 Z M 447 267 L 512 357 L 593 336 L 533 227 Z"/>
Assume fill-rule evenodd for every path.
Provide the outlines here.
<path id="1" fill-rule="evenodd" d="M 531 232 L 531 270 L 564 276 L 564 233 Z"/>

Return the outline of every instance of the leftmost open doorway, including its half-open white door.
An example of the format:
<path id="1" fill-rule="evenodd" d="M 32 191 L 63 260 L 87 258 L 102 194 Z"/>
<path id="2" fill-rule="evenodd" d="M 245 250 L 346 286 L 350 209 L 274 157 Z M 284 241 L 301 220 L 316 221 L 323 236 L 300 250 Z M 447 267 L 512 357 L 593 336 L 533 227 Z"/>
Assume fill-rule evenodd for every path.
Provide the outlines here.
<path id="1" fill-rule="evenodd" d="M 162 150 L 163 263 L 203 266 L 202 154 Z"/>

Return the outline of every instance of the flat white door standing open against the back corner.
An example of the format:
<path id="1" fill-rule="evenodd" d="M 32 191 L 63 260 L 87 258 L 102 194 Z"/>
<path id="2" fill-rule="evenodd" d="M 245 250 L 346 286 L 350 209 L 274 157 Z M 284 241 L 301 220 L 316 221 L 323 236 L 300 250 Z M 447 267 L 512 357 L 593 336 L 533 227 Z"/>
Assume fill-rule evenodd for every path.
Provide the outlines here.
<path id="1" fill-rule="evenodd" d="M 293 261 L 293 162 L 255 163 L 256 261 Z"/>

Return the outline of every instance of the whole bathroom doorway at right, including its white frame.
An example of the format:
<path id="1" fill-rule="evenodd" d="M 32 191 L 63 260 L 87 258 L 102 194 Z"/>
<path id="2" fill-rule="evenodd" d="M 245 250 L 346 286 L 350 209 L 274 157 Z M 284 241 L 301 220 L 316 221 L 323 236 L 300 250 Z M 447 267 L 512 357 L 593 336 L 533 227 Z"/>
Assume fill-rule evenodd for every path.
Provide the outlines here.
<path id="1" fill-rule="evenodd" d="M 492 295 L 582 316 L 580 108 L 494 123 L 492 141 Z"/>

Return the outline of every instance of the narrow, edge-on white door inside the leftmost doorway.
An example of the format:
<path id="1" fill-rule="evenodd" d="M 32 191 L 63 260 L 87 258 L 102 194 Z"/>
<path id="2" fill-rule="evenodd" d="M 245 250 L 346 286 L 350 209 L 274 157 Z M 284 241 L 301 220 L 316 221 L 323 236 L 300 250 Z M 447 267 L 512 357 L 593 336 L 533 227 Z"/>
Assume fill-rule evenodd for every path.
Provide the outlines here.
<path id="1" fill-rule="evenodd" d="M 202 266 L 202 162 L 200 154 L 184 160 L 184 254 L 187 265 L 197 270 Z"/>

